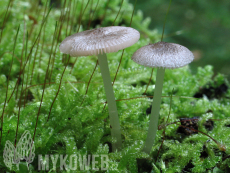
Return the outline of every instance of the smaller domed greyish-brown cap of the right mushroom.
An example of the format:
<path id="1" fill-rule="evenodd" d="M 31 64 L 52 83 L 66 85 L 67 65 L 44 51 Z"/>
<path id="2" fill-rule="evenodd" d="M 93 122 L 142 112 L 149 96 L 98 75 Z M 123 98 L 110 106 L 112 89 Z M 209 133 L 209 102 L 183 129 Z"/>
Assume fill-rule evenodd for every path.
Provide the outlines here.
<path id="1" fill-rule="evenodd" d="M 192 62 L 194 56 L 186 47 L 176 43 L 158 42 L 138 49 L 132 60 L 147 67 L 179 68 Z"/>

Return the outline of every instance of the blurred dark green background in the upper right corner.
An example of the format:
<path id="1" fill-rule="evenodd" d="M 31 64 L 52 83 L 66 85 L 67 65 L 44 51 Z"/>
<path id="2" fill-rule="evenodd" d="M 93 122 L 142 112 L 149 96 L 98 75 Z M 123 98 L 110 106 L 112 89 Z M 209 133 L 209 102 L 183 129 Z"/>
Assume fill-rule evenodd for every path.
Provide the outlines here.
<path id="1" fill-rule="evenodd" d="M 135 3 L 135 0 L 130 0 Z M 169 0 L 137 0 L 136 10 L 151 18 L 151 29 L 162 32 Z M 211 64 L 214 71 L 230 79 L 230 1 L 173 0 L 165 26 L 164 41 L 175 42 L 193 51 L 191 63 Z"/>

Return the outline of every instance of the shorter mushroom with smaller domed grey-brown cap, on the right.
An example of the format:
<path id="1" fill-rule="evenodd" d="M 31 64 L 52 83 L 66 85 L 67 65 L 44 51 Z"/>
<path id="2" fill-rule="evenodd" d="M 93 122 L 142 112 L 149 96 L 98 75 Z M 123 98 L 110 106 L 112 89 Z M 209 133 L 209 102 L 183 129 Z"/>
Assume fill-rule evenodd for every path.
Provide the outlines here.
<path id="1" fill-rule="evenodd" d="M 149 129 L 143 151 L 150 153 L 156 137 L 165 68 L 183 67 L 192 62 L 194 56 L 186 47 L 176 43 L 158 42 L 138 49 L 132 60 L 147 67 L 157 67 L 156 84 Z"/>

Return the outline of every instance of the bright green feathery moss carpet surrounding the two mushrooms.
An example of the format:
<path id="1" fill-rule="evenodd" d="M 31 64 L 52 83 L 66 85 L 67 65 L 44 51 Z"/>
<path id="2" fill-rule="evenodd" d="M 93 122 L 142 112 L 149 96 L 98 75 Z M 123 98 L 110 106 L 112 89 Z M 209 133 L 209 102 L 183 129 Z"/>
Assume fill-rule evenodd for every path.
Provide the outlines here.
<path id="1" fill-rule="evenodd" d="M 7 4 L 8 1 L 3 0 L 0 2 L 0 14 L 5 14 L 6 12 L 6 6 L 1 5 L 3 2 Z M 77 31 L 82 4 L 80 1 L 75 3 L 75 6 L 72 4 L 72 8 L 74 9 L 75 7 L 76 10 L 70 13 L 69 19 L 62 22 L 59 21 L 59 17 L 63 11 L 62 8 L 64 1 L 62 1 L 61 8 L 53 8 L 48 16 L 47 23 L 44 25 L 44 30 L 42 30 L 42 33 L 39 36 L 39 44 L 38 42 L 34 44 L 35 38 L 39 33 L 45 10 L 44 2 L 42 5 L 35 5 L 36 3 L 30 4 L 27 1 L 15 0 L 10 9 L 11 15 L 7 18 L 3 30 L 0 30 L 1 32 L 3 31 L 3 37 L 0 43 L 1 116 L 5 100 L 6 82 L 9 73 L 8 69 L 12 60 L 11 53 L 13 51 L 14 37 L 16 35 L 17 27 L 21 24 L 15 48 L 14 64 L 8 85 L 7 100 L 14 91 L 14 86 L 19 77 L 20 59 L 22 57 L 23 64 L 25 64 L 27 58 L 25 57 L 25 34 L 27 30 L 28 33 L 33 33 L 29 35 L 28 38 L 27 56 L 31 51 L 30 63 L 28 62 L 26 65 L 24 79 L 22 76 L 20 77 L 21 80 L 18 91 L 17 89 L 14 91 L 14 94 L 9 103 L 6 104 L 4 111 L 4 121 L 3 124 L 1 124 L 3 129 L 0 149 L 1 171 L 9 171 L 3 162 L 2 155 L 5 142 L 9 140 L 13 143 L 15 139 L 22 82 L 24 85 L 23 92 L 26 93 L 25 91 L 29 91 L 31 99 L 25 99 L 24 96 L 21 97 L 17 140 L 19 140 L 25 130 L 29 130 L 31 135 L 34 134 L 47 64 L 50 56 L 51 58 L 55 57 L 55 61 L 53 71 L 52 64 L 50 64 L 50 69 L 48 70 L 49 74 L 51 74 L 52 71 L 52 76 L 46 81 L 48 84 L 45 86 L 44 98 L 42 100 L 38 117 L 37 131 L 35 135 L 36 157 L 34 162 L 30 164 L 32 167 L 31 169 L 34 169 L 33 172 L 36 172 L 38 168 L 38 154 L 42 154 L 43 156 L 45 154 L 108 154 L 109 168 L 107 172 L 138 172 L 139 170 L 142 170 L 137 161 L 138 159 L 147 160 L 146 162 L 148 163 L 150 162 L 150 169 L 153 169 L 155 172 L 182 172 L 185 170 L 192 172 L 214 172 L 216 170 L 226 171 L 229 169 L 229 158 L 227 156 L 229 156 L 230 140 L 229 136 L 226 134 L 230 133 L 230 91 L 226 90 L 226 92 L 222 92 L 217 97 L 214 93 L 211 95 L 212 98 L 209 98 L 206 93 L 203 92 L 204 90 L 202 90 L 203 88 L 206 88 L 207 90 L 210 88 L 218 88 L 222 84 L 229 87 L 229 84 L 224 75 L 214 75 L 213 67 L 209 65 L 204 68 L 198 68 L 196 74 L 192 74 L 189 67 L 166 70 L 159 123 L 166 123 L 170 109 L 170 94 L 174 89 L 168 123 L 179 121 L 180 118 L 192 118 L 198 116 L 199 130 L 224 144 L 226 151 L 220 151 L 215 142 L 201 133 L 192 134 L 190 136 L 178 133 L 178 127 L 180 125 L 180 122 L 178 122 L 166 126 L 165 140 L 156 163 L 155 160 L 161 145 L 163 130 L 157 132 L 157 137 L 151 154 L 147 155 L 142 152 L 143 142 L 146 138 L 149 123 L 149 115 L 146 114 L 146 110 L 152 102 L 151 95 L 155 88 L 156 71 L 154 70 L 153 72 L 153 77 L 147 91 L 147 95 L 150 97 L 146 97 L 143 93 L 149 82 L 151 69 L 137 65 L 131 61 L 130 57 L 138 48 L 147 45 L 150 42 L 159 41 L 161 33 L 158 33 L 156 30 L 152 31 L 148 29 L 150 19 L 144 19 L 141 11 L 134 13 L 132 23 L 132 27 L 141 32 L 141 38 L 138 43 L 125 49 L 118 76 L 114 83 L 123 142 L 122 151 L 111 153 L 110 144 L 114 139 L 110 136 L 108 108 L 105 107 L 103 110 L 106 97 L 99 67 L 96 69 L 94 76 L 92 77 L 88 93 L 85 97 L 87 84 L 95 67 L 97 58 L 94 56 L 78 57 L 73 70 L 71 70 L 73 63 L 76 60 L 76 58 L 72 57 L 70 63 L 67 64 L 62 85 L 58 92 L 61 74 L 65 68 L 63 55 L 58 50 L 58 45 L 66 35 Z M 99 27 L 100 20 L 102 20 L 105 10 L 107 13 L 102 22 L 102 26 L 109 26 L 112 24 L 119 10 L 120 1 L 109 1 L 108 8 L 106 9 L 107 2 L 108 1 L 106 0 L 100 1 L 92 20 L 91 27 Z M 68 3 L 69 1 L 67 1 L 67 4 Z M 86 3 L 87 1 L 84 1 L 83 7 L 85 7 Z M 92 9 L 96 7 L 96 1 L 93 1 L 92 5 L 91 3 L 92 2 L 90 2 L 90 5 L 86 9 L 82 18 L 80 31 L 87 29 L 89 16 L 92 14 Z M 32 9 L 32 7 L 35 9 Z M 37 13 L 35 12 L 36 10 Z M 115 25 L 122 24 L 129 26 L 132 10 L 133 6 L 129 4 L 128 1 L 124 0 L 122 6 L 123 15 L 119 15 L 119 20 L 115 22 Z M 66 12 L 68 12 L 68 10 Z M 33 25 L 31 16 L 38 22 L 36 25 Z M 27 26 L 26 29 L 24 28 L 24 19 Z M 2 23 L 3 20 L 4 19 L 1 18 L 0 23 Z M 51 52 L 56 20 L 59 21 L 58 28 L 60 27 L 60 24 L 62 24 L 62 28 L 59 39 L 57 38 L 57 35 L 54 37 L 54 51 Z M 67 27 L 67 25 L 71 22 L 73 22 L 72 30 L 69 32 L 70 26 Z M 34 27 L 33 30 L 32 27 Z M 68 33 L 66 33 L 67 29 Z M 45 37 L 43 38 L 44 35 Z M 34 47 L 32 47 L 33 44 Z M 36 53 L 37 47 L 38 50 Z M 112 79 L 115 76 L 121 54 L 122 51 L 108 54 Z M 34 60 L 35 66 L 33 70 Z M 27 90 L 25 90 L 26 83 L 27 87 L 29 87 Z M 52 102 L 57 92 L 57 99 L 50 112 Z M 212 90 L 211 92 L 215 91 Z M 201 97 L 194 98 L 194 95 L 197 93 L 201 93 Z M 85 101 L 81 105 L 84 97 Z M 50 117 L 48 120 L 49 114 Z M 204 123 L 209 119 L 214 122 L 211 131 L 207 130 L 204 126 Z M 202 155 L 204 152 L 206 153 L 206 157 L 203 157 Z M 69 158 L 66 163 L 70 163 Z M 99 160 L 97 165 L 100 164 L 101 162 Z M 56 172 L 60 172 L 59 166 L 60 165 L 57 165 Z M 52 168 L 52 163 L 50 163 L 50 168 Z M 80 171 L 79 167 L 78 170 Z"/>

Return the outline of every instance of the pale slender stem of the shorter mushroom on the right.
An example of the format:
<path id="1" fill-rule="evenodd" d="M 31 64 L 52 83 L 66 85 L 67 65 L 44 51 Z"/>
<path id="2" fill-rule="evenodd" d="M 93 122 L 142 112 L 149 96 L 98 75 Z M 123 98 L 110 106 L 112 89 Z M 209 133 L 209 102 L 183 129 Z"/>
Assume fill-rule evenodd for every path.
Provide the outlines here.
<path id="1" fill-rule="evenodd" d="M 152 149 L 154 139 L 157 133 L 164 74 L 165 74 L 164 68 L 157 69 L 156 84 L 155 84 L 155 91 L 154 91 L 154 97 L 153 97 L 153 103 L 152 103 L 152 109 L 150 115 L 149 129 L 145 141 L 145 146 L 143 149 L 143 151 L 146 152 L 147 154 L 149 154 Z"/>

